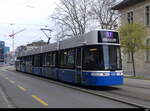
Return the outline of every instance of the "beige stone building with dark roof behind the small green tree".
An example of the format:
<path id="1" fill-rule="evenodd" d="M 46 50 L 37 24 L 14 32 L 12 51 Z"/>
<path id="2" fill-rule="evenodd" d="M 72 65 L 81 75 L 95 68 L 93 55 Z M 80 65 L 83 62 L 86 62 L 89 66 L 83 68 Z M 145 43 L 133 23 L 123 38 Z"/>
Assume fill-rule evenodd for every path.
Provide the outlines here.
<path id="1" fill-rule="evenodd" d="M 112 7 L 120 13 L 120 23 L 138 23 L 145 26 L 148 32 L 145 44 L 150 45 L 150 0 L 124 0 Z M 136 74 L 150 78 L 150 50 L 139 51 L 135 54 Z M 133 74 L 130 54 L 123 55 L 125 74 Z"/>

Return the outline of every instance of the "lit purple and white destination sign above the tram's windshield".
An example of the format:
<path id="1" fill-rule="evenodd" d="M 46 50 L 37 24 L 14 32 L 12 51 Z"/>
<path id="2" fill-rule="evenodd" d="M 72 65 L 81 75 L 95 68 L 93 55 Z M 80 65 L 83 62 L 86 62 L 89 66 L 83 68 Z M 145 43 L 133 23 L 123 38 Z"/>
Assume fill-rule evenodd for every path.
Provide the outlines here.
<path id="1" fill-rule="evenodd" d="M 111 32 L 111 31 L 99 31 L 98 42 L 99 43 L 119 43 L 118 33 Z"/>

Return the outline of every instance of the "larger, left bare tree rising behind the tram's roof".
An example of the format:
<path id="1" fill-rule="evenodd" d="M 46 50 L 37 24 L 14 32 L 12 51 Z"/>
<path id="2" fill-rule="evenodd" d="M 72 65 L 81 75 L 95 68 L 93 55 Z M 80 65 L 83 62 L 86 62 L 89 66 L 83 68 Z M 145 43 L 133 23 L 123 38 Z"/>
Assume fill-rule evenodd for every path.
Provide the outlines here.
<path id="1" fill-rule="evenodd" d="M 60 0 L 51 18 L 59 26 L 59 34 L 77 37 L 86 32 L 89 21 L 90 0 Z"/>

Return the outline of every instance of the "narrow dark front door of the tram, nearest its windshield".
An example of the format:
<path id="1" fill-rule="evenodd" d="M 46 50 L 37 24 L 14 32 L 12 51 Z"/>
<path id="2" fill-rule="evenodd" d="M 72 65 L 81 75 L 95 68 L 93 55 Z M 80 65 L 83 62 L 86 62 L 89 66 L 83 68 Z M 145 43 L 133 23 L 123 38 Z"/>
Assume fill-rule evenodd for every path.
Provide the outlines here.
<path id="1" fill-rule="evenodd" d="M 82 48 L 76 49 L 76 82 L 81 83 L 82 80 Z"/>

